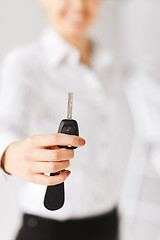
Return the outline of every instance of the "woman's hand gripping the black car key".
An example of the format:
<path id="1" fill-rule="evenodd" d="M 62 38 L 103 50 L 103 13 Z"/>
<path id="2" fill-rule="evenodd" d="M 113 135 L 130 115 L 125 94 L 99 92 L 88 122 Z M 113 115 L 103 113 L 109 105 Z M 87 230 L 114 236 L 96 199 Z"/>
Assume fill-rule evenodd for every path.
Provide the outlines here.
<path id="1" fill-rule="evenodd" d="M 2 165 L 7 173 L 29 182 L 48 186 L 60 184 L 70 174 L 64 169 L 70 166 L 74 151 L 60 149 L 57 145 L 80 147 L 84 144 L 83 138 L 62 133 L 33 135 L 9 145 L 3 154 Z M 45 175 L 59 171 L 62 171 L 59 175 Z"/>

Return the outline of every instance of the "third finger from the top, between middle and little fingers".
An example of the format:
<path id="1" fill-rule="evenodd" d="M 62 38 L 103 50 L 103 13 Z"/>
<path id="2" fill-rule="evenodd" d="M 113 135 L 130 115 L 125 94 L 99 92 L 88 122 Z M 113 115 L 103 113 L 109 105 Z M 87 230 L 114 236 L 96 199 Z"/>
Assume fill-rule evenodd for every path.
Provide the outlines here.
<path id="1" fill-rule="evenodd" d="M 34 173 L 56 173 L 68 168 L 69 166 L 69 160 L 62 162 L 38 162 L 32 164 L 32 171 Z"/>

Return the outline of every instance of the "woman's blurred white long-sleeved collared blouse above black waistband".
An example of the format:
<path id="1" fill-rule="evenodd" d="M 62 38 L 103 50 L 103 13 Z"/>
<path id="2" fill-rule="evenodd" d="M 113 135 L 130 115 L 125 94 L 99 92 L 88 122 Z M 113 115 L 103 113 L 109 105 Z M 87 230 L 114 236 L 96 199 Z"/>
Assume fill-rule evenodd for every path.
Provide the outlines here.
<path id="1" fill-rule="evenodd" d="M 130 155 L 133 127 L 120 76 L 113 74 L 111 54 L 94 43 L 88 67 L 80 63 L 77 49 L 47 28 L 40 39 L 6 57 L 1 77 L 1 155 L 16 140 L 56 133 L 67 115 L 68 92 L 74 93 L 73 119 L 86 140 L 71 160 L 64 206 L 58 211 L 47 210 L 43 206 L 46 187 L 26 182 L 20 197 L 22 211 L 65 220 L 114 208 Z"/>

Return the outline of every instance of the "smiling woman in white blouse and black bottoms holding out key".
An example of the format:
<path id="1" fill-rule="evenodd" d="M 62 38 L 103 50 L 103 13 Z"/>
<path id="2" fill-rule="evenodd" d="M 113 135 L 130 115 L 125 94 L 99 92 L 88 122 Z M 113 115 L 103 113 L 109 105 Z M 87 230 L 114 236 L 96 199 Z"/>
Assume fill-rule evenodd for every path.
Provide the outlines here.
<path id="1" fill-rule="evenodd" d="M 101 0 L 41 0 L 41 4 L 50 26 L 37 41 L 12 51 L 2 68 L 3 175 L 27 181 L 16 240 L 115 240 L 131 131 L 123 89 L 112 78 L 111 56 L 87 37 Z M 68 92 L 74 92 L 73 116 L 86 144 L 82 137 L 56 133 L 66 114 Z M 85 147 L 77 149 L 70 162 L 74 151 L 58 145 Z M 45 174 L 70 164 L 71 175 L 69 170 Z M 67 178 L 65 205 L 47 210 L 46 186 Z"/>

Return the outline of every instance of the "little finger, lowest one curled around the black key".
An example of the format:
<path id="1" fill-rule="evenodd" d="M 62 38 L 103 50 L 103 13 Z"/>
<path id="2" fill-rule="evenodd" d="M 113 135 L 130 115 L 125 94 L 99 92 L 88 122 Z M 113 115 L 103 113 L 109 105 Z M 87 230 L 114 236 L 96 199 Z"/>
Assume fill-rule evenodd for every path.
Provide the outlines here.
<path id="1" fill-rule="evenodd" d="M 56 176 L 46 176 L 44 174 L 34 174 L 30 179 L 31 182 L 46 186 L 53 186 L 64 182 L 70 175 L 69 170 L 65 170 Z"/>

